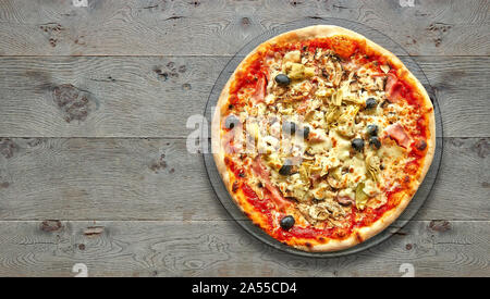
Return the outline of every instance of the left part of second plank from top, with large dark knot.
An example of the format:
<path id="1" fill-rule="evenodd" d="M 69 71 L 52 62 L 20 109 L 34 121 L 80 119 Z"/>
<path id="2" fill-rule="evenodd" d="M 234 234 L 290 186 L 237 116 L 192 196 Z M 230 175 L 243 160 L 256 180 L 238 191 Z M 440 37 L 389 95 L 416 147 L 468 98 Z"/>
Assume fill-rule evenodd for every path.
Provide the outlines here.
<path id="1" fill-rule="evenodd" d="M 0 59 L 0 136 L 186 136 L 187 117 L 204 113 L 208 90 L 225 62 L 218 58 Z M 60 97 L 57 87 L 63 91 Z"/>

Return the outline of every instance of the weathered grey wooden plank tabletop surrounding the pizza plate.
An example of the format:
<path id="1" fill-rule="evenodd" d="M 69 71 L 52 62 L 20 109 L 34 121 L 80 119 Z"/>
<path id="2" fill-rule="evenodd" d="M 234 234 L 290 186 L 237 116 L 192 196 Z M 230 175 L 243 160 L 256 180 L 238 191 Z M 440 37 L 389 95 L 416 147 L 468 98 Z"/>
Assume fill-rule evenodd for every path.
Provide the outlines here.
<path id="1" fill-rule="evenodd" d="M 42 2 L 42 4 L 40 3 Z M 0 275 L 490 276 L 489 1 L 0 2 Z M 188 116 L 248 40 L 334 16 L 381 30 L 439 99 L 442 166 L 415 219 L 358 254 L 307 259 L 218 202 Z"/>

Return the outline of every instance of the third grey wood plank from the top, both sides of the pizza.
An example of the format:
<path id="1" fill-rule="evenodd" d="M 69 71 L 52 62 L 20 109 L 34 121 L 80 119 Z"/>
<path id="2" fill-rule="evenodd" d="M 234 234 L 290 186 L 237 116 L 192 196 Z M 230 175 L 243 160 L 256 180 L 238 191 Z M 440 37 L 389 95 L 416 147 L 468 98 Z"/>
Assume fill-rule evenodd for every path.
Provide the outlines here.
<path id="1" fill-rule="evenodd" d="M 418 220 L 488 220 L 489 138 L 448 138 Z M 181 139 L 0 139 L 0 220 L 230 220 Z"/>

